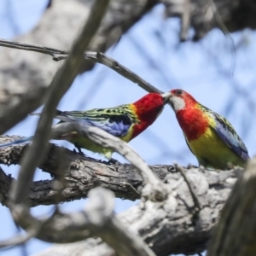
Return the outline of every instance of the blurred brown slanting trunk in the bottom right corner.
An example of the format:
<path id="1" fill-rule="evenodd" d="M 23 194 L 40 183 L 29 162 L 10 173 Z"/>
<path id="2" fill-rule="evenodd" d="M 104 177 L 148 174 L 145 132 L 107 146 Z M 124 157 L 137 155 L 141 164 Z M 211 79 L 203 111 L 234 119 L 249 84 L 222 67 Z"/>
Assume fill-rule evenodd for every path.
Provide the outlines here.
<path id="1" fill-rule="evenodd" d="M 256 158 L 235 184 L 214 230 L 208 256 L 256 254 Z"/>

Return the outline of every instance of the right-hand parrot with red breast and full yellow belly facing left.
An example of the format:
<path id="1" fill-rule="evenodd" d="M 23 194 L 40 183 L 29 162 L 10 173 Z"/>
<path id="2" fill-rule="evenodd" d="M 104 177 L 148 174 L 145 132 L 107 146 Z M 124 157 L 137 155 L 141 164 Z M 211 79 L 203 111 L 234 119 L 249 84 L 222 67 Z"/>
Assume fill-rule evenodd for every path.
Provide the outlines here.
<path id="1" fill-rule="evenodd" d="M 169 103 L 199 166 L 227 170 L 230 164 L 246 165 L 250 159 L 247 147 L 227 119 L 184 90 L 171 90 L 171 95 Z"/>

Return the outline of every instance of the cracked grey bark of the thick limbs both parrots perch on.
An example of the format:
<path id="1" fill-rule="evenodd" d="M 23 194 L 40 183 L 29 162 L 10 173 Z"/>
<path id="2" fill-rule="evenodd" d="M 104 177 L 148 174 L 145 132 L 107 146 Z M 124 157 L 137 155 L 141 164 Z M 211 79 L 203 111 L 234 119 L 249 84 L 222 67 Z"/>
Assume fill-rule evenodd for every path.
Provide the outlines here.
<path id="1" fill-rule="evenodd" d="M 9 137 L 7 139 L 2 137 L 0 143 L 9 139 Z M 22 147 L 3 148 L 0 156 L 1 163 L 18 164 L 24 150 L 26 149 Z M 60 170 L 58 166 L 63 160 L 65 160 L 65 167 Z M 52 180 L 32 184 L 30 194 L 32 206 L 86 197 L 89 189 L 96 186 L 111 189 L 117 197 L 130 200 L 139 199 L 138 193 L 143 189 L 142 178 L 131 165 L 120 165 L 116 169 L 114 165 L 85 158 L 68 149 L 64 150 L 60 158 L 60 148 L 54 145 L 50 149 L 47 160 L 40 167 L 44 172 L 49 172 L 55 177 Z M 119 219 L 127 228 L 142 236 L 157 255 L 196 253 L 205 250 L 212 227 L 241 170 L 226 172 L 209 172 L 193 168 L 186 170 L 187 177 L 195 187 L 201 203 L 201 211 L 195 215 L 188 185 L 183 181 L 181 174 L 173 166 L 150 167 L 157 177 L 169 183 L 172 187 L 172 195 L 163 202 L 142 201 L 137 207 L 119 214 Z M 56 196 L 58 189 L 55 188 L 55 183 L 60 172 L 65 172 L 65 182 L 61 195 Z M 0 178 L 3 180 L 8 177 L 4 177 L 2 173 Z M 1 187 L 0 190 L 3 204 L 6 201 L 6 190 L 6 186 Z M 52 247 L 50 252 L 55 254 L 55 248 L 58 250 L 58 247 L 60 246 Z M 64 249 L 65 247 L 67 249 Z M 61 245 L 63 253 L 59 252 L 58 255 L 67 255 L 66 253 L 71 251 L 77 253 L 79 247 L 83 248 L 80 255 L 108 255 L 111 250 L 106 249 L 101 240 L 89 239 Z"/>

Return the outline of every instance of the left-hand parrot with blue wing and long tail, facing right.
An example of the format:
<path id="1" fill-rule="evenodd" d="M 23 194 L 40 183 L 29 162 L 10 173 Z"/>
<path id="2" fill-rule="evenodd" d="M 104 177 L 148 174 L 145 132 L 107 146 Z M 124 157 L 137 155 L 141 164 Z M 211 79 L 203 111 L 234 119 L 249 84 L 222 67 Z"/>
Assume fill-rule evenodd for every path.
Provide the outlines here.
<path id="1" fill-rule="evenodd" d="M 149 125 L 154 123 L 170 96 L 170 92 L 164 94 L 152 92 L 143 96 L 137 102 L 114 108 L 94 108 L 87 111 L 56 110 L 55 119 L 61 120 L 58 124 L 63 122 L 79 122 L 96 126 L 129 143 L 131 139 L 137 137 Z M 40 115 L 40 113 L 31 113 L 30 115 Z M 76 132 L 63 135 L 63 137 L 56 139 L 64 139 L 73 143 L 81 154 L 81 148 L 85 148 L 94 153 L 103 154 L 108 160 L 112 159 L 113 149 L 103 148 L 90 141 L 89 138 L 79 136 Z M 26 137 L 10 143 L 1 144 L 0 148 L 14 146 L 20 143 L 29 143 L 30 141 L 32 141 L 32 137 Z"/>

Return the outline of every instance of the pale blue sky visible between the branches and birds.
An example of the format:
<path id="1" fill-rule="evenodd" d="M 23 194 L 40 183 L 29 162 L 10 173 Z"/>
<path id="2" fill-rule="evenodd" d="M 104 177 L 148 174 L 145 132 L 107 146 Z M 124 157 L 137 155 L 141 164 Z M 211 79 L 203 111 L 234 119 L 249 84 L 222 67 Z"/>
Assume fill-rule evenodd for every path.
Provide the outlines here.
<path id="1" fill-rule="evenodd" d="M 0 2 L 0 37 L 14 39 L 15 35 L 26 33 L 35 26 L 42 15 L 46 1 L 5 0 Z M 158 6 L 121 38 L 119 44 L 108 50 L 108 55 L 130 68 L 160 90 L 182 88 L 189 91 L 203 105 L 223 114 L 234 125 L 251 156 L 256 153 L 255 97 L 256 46 L 255 32 L 245 30 L 232 33 L 236 45 L 236 55 L 232 53 L 230 39 L 218 29 L 214 29 L 200 42 L 178 42 L 178 19 L 163 19 L 163 7 Z M 193 31 L 190 31 L 193 34 Z M 27 42 L 29 43 L 29 42 Z M 50 47 L 50 45 L 49 45 Z M 8 49 L 6 49 L 8 50 Z M 129 54 L 128 54 L 129 53 Z M 235 60 L 233 75 L 230 73 Z M 49 61 L 51 61 L 49 59 Z M 44 68 L 44 67 L 42 67 Z M 96 65 L 93 71 L 79 76 L 58 108 L 61 110 L 85 110 L 108 108 L 135 102 L 146 92 L 137 84 L 119 76 L 108 67 Z M 7 132 L 9 135 L 31 136 L 38 118 L 28 117 Z M 58 142 L 67 148 L 73 145 Z M 172 109 L 166 107 L 159 119 L 140 137 L 131 141 L 131 146 L 142 155 L 148 164 L 197 165 L 195 156 L 190 153 L 177 125 Z M 100 158 L 97 154 L 91 154 Z M 113 158 L 125 162 L 118 154 Z M 16 177 L 19 166 L 2 166 L 5 172 Z M 37 171 L 35 180 L 50 178 Z M 73 201 L 61 205 L 66 212 L 76 211 L 86 200 Z M 116 200 L 116 211 L 131 207 L 134 202 Z M 50 212 L 50 207 L 35 207 L 32 212 L 42 216 Z M 15 235 L 9 210 L 0 207 L 0 240 Z M 51 246 L 33 239 L 27 243 L 28 254 L 36 253 Z M 1 255 L 21 255 L 20 248 L 1 252 Z"/>

